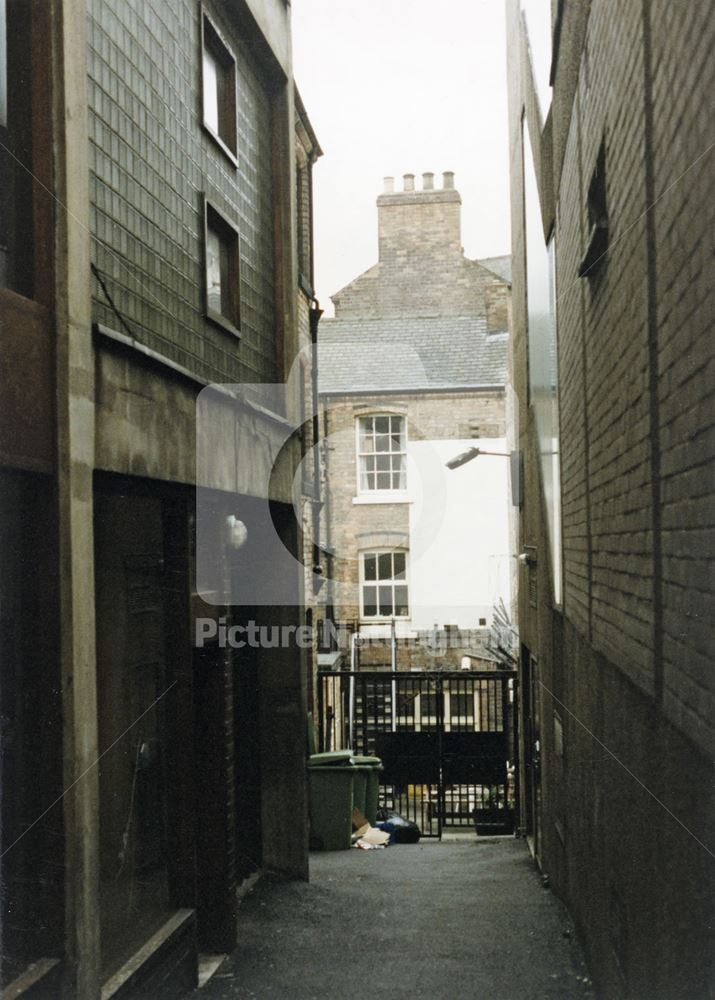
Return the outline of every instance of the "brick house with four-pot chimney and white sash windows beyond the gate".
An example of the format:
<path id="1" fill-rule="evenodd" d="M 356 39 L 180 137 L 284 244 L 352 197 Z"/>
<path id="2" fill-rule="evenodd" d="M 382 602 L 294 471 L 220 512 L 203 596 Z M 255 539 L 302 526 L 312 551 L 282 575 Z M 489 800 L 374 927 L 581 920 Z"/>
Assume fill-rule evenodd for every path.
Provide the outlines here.
<path id="1" fill-rule="evenodd" d="M 467 259 L 460 213 L 451 173 L 399 192 L 386 178 L 378 262 L 320 330 L 326 613 L 374 640 L 394 620 L 400 669 L 488 664 L 494 604 L 510 604 L 510 262 Z M 448 471 L 469 447 L 498 454 Z M 390 663 L 389 642 L 361 652 Z"/>

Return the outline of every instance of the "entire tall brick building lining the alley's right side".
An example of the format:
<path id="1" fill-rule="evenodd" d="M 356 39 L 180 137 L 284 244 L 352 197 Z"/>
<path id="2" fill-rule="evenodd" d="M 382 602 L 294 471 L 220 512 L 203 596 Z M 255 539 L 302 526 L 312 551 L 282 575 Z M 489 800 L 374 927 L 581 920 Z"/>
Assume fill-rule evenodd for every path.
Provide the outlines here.
<path id="1" fill-rule="evenodd" d="M 600 996 L 707 997 L 713 19 L 508 25 L 523 818 Z"/>

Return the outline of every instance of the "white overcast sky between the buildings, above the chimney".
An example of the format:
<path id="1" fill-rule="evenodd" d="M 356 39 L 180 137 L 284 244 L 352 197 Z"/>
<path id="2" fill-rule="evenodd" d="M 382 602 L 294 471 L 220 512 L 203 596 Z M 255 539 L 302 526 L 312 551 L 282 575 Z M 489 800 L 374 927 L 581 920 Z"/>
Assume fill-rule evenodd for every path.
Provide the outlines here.
<path id="1" fill-rule="evenodd" d="M 455 172 L 468 257 L 509 252 L 503 0 L 293 0 L 314 171 L 321 305 L 377 261 L 382 178 Z"/>

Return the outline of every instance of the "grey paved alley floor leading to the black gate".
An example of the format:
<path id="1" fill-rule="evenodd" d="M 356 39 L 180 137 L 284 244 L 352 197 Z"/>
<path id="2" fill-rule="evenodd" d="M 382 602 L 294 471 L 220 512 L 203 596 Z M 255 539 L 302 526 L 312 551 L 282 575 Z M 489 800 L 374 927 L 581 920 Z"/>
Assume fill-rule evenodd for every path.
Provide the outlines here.
<path id="1" fill-rule="evenodd" d="M 192 1000 L 581 1000 L 566 911 L 523 841 L 311 855 L 311 882 L 262 879 L 237 951 Z"/>

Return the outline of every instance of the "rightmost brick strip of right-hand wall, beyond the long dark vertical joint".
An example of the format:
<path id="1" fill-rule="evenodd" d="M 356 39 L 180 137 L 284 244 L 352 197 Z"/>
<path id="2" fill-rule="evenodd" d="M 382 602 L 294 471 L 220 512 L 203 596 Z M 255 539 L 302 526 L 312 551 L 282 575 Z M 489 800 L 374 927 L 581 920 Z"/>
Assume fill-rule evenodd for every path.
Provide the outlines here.
<path id="1" fill-rule="evenodd" d="M 668 716 L 704 746 L 715 742 L 711 15 L 706 4 L 694 4 L 686 14 L 663 0 L 652 3 L 650 13 L 653 200 L 662 195 L 651 222 L 657 248 L 663 700 Z"/>

